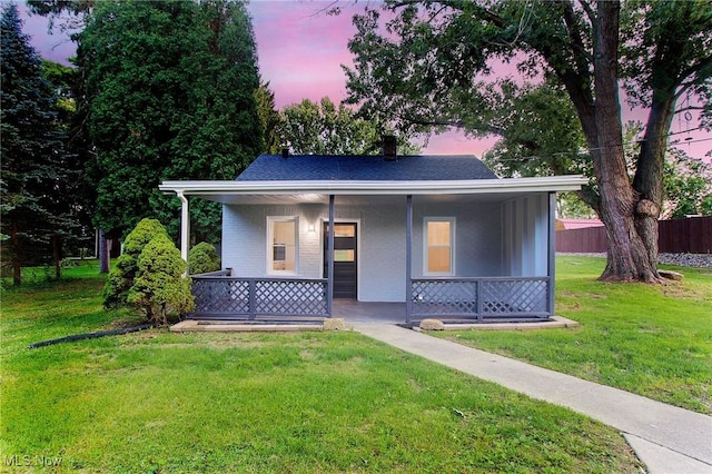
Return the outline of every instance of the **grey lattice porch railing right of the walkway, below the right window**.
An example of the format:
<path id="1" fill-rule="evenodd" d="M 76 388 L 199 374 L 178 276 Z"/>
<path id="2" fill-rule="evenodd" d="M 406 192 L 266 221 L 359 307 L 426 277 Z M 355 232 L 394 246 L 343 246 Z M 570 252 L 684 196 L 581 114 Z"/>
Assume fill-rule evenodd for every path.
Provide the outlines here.
<path id="1" fill-rule="evenodd" d="M 548 277 L 413 279 L 407 322 L 547 318 L 552 315 L 548 285 Z"/>

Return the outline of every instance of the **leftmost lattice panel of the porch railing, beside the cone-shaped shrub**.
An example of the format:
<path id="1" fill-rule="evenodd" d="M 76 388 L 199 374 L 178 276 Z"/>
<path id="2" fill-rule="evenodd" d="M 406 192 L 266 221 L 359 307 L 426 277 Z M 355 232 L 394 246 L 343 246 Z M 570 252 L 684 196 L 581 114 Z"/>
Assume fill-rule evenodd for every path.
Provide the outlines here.
<path id="1" fill-rule="evenodd" d="M 192 280 L 195 313 L 249 313 L 249 283 L 231 278 Z"/>

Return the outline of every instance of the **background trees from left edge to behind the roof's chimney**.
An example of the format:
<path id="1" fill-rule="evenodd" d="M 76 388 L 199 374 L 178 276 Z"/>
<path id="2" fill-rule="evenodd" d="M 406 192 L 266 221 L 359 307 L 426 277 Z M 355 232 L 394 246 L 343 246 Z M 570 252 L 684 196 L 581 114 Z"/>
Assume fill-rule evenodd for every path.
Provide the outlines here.
<path id="1" fill-rule="evenodd" d="M 180 205 L 159 192 L 162 180 L 234 179 L 260 152 L 286 145 L 295 154 L 379 148 L 383 126 L 328 98 L 275 109 L 269 86 L 260 86 L 241 0 L 28 3 L 50 23 L 72 23 L 77 56 L 71 67 L 41 68 L 17 7 L 8 6 L 2 234 L 10 240 L 3 261 L 18 284 L 21 267 L 49 260 L 59 277 L 72 239 L 83 234 L 82 245 L 93 246 L 95 227 L 123 238 L 140 219 L 155 218 L 177 240 Z M 6 67 L 12 61 L 17 68 Z M 36 116 L 16 130 L 22 120 L 10 102 L 26 102 L 22 93 L 33 96 Z M 16 136 L 34 140 L 31 156 L 12 145 Z M 190 214 L 191 241 L 218 241 L 220 206 L 195 200 Z M 99 249 L 106 254 L 103 244 Z"/>

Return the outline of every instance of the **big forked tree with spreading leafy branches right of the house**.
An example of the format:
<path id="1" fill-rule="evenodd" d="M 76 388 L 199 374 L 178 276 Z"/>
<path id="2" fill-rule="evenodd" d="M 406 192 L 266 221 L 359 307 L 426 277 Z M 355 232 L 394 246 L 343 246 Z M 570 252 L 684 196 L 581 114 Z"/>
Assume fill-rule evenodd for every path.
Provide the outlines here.
<path id="1" fill-rule="evenodd" d="M 392 12 L 385 32 L 378 11 L 355 17 L 350 102 L 402 129 L 500 134 L 506 82 L 487 81 L 493 61 L 517 61 L 525 79 L 552 78 L 576 112 L 595 176 L 584 197 L 609 236 L 601 278 L 660 282 L 656 219 L 678 98 L 699 98 L 710 117 L 709 2 L 630 1 L 621 11 L 617 1 L 386 0 L 384 8 Z M 621 81 L 649 111 L 632 181 Z"/>

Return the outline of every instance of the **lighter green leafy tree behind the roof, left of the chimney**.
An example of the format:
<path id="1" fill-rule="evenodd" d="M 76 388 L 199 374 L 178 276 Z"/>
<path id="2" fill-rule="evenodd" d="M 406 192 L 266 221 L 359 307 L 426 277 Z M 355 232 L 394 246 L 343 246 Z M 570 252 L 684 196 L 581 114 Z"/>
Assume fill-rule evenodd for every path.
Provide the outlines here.
<path id="1" fill-rule="evenodd" d="M 382 135 L 389 130 L 377 121 L 359 118 L 340 103 L 338 108 L 324 97 L 319 103 L 304 99 L 279 112 L 278 136 L 296 155 L 375 155 L 380 151 Z M 398 139 L 399 152 L 417 152 L 418 147 Z"/>

